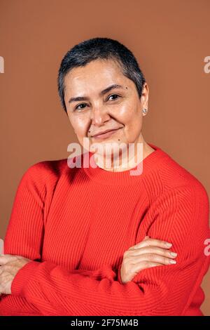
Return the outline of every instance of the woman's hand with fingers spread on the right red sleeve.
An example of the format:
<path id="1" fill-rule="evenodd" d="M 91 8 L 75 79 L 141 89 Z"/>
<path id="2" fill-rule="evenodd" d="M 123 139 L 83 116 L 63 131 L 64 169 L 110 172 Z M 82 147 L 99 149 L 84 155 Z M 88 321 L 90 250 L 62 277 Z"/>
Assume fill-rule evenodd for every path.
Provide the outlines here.
<path id="1" fill-rule="evenodd" d="M 160 265 L 173 265 L 175 260 L 172 259 L 176 258 L 176 255 L 172 256 L 172 252 L 168 250 L 172 244 L 167 246 L 166 243 L 168 242 L 146 236 L 143 241 L 125 251 L 120 267 L 123 284 L 130 282 L 141 270 Z"/>

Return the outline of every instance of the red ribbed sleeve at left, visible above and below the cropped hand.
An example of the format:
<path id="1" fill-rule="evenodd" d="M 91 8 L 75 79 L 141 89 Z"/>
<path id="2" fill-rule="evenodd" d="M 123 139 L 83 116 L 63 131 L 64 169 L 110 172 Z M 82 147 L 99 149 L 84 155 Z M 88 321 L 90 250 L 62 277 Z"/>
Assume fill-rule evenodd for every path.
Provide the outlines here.
<path id="1" fill-rule="evenodd" d="M 52 198 L 46 193 L 46 182 L 52 186 L 56 181 L 52 175 L 50 180 L 46 180 L 49 164 L 48 161 L 40 161 L 31 165 L 22 175 L 6 230 L 4 254 L 24 256 L 31 260 L 41 259 L 44 223 Z M 51 188 L 49 191 L 53 192 L 53 187 Z M 40 314 L 36 307 L 22 296 L 0 297 L 0 315 L 34 315 L 37 312 Z"/>

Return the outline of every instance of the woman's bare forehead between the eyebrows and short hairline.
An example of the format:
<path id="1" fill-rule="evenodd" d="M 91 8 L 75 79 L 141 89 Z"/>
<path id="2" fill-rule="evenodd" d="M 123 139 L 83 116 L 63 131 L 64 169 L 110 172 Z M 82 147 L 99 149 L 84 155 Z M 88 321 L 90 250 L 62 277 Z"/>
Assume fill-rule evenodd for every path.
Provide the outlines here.
<path id="1" fill-rule="evenodd" d="M 130 84 L 113 60 L 93 60 L 84 67 L 73 68 L 64 79 L 65 94 L 72 96 L 97 93 L 111 84 Z"/>

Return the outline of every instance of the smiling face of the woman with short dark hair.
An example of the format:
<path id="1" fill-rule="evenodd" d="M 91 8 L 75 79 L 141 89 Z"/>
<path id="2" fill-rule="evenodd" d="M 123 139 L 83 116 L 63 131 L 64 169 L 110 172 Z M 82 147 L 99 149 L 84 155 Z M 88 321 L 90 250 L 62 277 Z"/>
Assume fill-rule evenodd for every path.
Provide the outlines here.
<path id="1" fill-rule="evenodd" d="M 148 85 L 140 99 L 134 82 L 113 60 L 94 60 L 66 74 L 64 100 L 71 126 L 85 149 L 85 139 L 91 150 L 94 143 L 128 145 L 141 138 Z"/>

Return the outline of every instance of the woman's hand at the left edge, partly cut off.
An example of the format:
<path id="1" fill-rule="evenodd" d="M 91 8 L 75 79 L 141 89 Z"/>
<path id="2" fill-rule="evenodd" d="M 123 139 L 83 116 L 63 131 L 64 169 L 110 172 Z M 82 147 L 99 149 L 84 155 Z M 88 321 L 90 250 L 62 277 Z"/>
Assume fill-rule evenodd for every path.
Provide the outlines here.
<path id="1" fill-rule="evenodd" d="M 11 294 L 11 285 L 15 275 L 29 261 L 31 260 L 11 254 L 0 256 L 0 294 Z"/>

